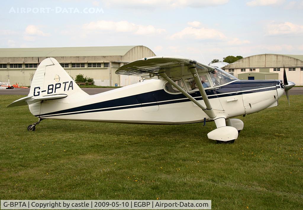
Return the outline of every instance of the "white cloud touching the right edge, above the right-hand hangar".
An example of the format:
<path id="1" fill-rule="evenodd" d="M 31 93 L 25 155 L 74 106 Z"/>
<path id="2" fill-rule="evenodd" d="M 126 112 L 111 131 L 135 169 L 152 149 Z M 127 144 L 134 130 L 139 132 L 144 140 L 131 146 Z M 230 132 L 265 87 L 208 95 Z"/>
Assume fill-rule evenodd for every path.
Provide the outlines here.
<path id="1" fill-rule="evenodd" d="M 303 34 L 303 25 L 297 25 L 291 22 L 271 22 L 267 25 L 266 30 L 266 35 L 298 35 Z"/>

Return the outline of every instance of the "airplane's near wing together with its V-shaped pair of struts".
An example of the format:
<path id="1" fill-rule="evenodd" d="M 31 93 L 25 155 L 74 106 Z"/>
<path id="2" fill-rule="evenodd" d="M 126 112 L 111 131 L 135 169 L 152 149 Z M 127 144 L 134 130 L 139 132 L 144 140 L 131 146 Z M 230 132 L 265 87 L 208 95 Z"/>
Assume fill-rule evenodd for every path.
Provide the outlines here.
<path id="1" fill-rule="evenodd" d="M 195 60 L 182 56 L 155 56 L 150 58 L 142 58 L 140 60 L 123 65 L 118 68 L 115 73 L 155 79 L 163 78 L 177 88 L 178 91 L 183 93 L 183 95 L 185 95 L 189 100 L 200 107 L 210 118 L 215 118 L 216 114 L 211 107 L 199 78 L 199 73 L 210 72 L 214 69 L 215 67 L 213 66 L 204 65 L 196 62 Z M 192 75 L 195 79 L 206 107 L 201 105 L 201 103 L 199 103 L 195 98 L 188 94 L 188 92 L 173 81 L 174 78 L 180 78 L 188 75 Z"/>

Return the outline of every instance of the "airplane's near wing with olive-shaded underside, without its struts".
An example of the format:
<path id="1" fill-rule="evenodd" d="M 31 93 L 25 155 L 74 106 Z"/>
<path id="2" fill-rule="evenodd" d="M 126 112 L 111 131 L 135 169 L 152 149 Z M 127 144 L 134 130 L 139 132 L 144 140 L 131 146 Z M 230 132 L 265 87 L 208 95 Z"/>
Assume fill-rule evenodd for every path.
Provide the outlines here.
<path id="1" fill-rule="evenodd" d="M 115 73 L 154 79 L 161 78 L 159 73 L 165 73 L 173 79 L 191 75 L 190 68 L 196 68 L 198 73 L 215 69 L 213 66 L 201 64 L 183 56 L 154 56 L 125 64 Z"/>

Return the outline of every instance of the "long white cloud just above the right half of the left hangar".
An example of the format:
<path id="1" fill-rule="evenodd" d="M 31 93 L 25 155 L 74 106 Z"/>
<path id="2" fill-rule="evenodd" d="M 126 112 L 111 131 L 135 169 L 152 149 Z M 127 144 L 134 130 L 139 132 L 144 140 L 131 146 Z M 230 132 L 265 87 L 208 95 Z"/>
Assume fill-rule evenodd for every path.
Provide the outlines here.
<path id="1" fill-rule="evenodd" d="M 102 31 L 115 31 L 115 32 L 132 32 L 138 35 L 146 34 L 160 34 L 165 32 L 165 29 L 155 28 L 152 25 L 137 25 L 128 21 L 106 21 L 100 20 L 96 22 L 90 22 L 83 25 L 83 28 L 87 30 L 102 30 Z"/>

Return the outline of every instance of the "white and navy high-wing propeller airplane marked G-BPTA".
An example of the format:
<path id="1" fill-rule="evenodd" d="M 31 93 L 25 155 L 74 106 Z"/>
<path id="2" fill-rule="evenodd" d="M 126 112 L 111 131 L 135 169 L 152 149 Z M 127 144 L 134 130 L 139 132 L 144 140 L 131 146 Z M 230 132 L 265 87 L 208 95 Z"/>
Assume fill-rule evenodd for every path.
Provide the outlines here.
<path id="1" fill-rule="evenodd" d="M 182 56 L 142 58 L 121 66 L 116 74 L 146 78 L 144 82 L 88 95 L 54 58 L 43 60 L 28 96 L 8 107 L 28 105 L 43 119 L 138 124 L 185 124 L 215 121 L 208 138 L 233 143 L 244 124 L 234 117 L 278 105 L 295 83 L 284 80 L 238 80 L 221 68 Z M 221 68 L 220 68 L 221 67 Z"/>

